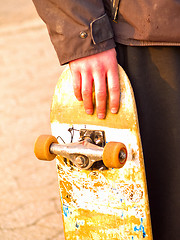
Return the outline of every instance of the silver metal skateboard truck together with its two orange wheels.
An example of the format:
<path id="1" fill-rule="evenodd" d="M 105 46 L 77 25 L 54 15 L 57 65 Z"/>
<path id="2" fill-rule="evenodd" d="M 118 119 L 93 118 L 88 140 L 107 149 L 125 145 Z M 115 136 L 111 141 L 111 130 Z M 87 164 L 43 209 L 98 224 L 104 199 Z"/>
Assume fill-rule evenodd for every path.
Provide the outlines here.
<path id="1" fill-rule="evenodd" d="M 103 161 L 107 168 L 121 168 L 127 160 L 127 149 L 123 143 L 105 144 L 104 131 L 80 130 L 79 142 L 58 144 L 51 135 L 37 138 L 34 153 L 40 160 L 53 160 L 56 155 L 68 158 L 80 169 L 90 169 L 95 162 Z"/>

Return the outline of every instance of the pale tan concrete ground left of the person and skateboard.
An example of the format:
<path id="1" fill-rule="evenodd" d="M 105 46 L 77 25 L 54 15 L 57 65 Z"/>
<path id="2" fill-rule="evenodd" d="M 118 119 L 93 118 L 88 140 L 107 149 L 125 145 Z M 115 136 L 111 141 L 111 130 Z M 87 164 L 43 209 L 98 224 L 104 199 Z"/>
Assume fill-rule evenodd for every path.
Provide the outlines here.
<path id="1" fill-rule="evenodd" d="M 62 68 L 32 2 L 0 2 L 0 239 L 62 240 L 55 162 L 33 153 Z"/>

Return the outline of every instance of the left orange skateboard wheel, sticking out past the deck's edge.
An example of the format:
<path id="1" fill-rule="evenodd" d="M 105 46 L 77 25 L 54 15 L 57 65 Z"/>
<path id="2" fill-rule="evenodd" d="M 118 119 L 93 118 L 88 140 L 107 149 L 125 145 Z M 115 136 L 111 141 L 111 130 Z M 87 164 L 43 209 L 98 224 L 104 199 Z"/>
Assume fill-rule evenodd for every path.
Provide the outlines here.
<path id="1" fill-rule="evenodd" d="M 56 155 L 50 152 L 50 146 L 52 143 L 58 143 L 57 139 L 52 135 L 39 136 L 34 144 L 34 153 L 40 160 L 53 160 Z"/>

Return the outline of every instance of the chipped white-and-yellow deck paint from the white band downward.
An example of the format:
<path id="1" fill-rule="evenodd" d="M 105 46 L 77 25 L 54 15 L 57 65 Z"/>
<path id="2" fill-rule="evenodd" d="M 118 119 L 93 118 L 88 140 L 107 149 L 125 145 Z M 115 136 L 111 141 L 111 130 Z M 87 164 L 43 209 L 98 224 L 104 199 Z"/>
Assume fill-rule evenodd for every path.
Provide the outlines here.
<path id="1" fill-rule="evenodd" d="M 57 122 L 52 124 L 54 135 L 57 137 L 60 133 L 61 136 L 66 136 L 63 138 L 66 143 L 72 140 L 68 129 L 76 129 L 73 133 L 73 141 L 76 142 L 79 139 L 78 130 L 81 128 L 98 127 L 69 124 L 58 126 Z M 57 157 L 65 228 L 70 236 L 71 232 L 76 231 L 74 237 L 67 239 L 85 239 L 85 232 L 93 235 L 93 238 L 89 236 L 88 239 L 105 239 L 101 238 L 104 234 L 107 240 L 148 239 L 148 203 L 135 133 L 127 129 L 106 127 L 101 127 L 101 130 L 105 131 L 107 142 L 110 139 L 123 140 L 127 146 L 128 159 L 121 169 L 91 171 L 79 170 L 66 164 L 63 158 Z M 123 238 L 122 235 L 127 232 Z"/>

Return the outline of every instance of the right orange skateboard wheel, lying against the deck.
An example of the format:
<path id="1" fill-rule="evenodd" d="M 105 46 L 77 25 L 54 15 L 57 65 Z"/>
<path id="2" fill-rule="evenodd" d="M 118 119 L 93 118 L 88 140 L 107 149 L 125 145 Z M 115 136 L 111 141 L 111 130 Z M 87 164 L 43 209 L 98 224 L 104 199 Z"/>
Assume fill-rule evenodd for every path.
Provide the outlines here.
<path id="1" fill-rule="evenodd" d="M 123 143 L 109 142 L 103 151 L 103 162 L 108 168 L 121 168 L 127 160 L 127 149 Z"/>

